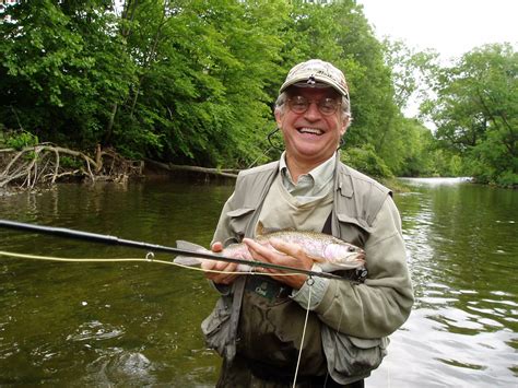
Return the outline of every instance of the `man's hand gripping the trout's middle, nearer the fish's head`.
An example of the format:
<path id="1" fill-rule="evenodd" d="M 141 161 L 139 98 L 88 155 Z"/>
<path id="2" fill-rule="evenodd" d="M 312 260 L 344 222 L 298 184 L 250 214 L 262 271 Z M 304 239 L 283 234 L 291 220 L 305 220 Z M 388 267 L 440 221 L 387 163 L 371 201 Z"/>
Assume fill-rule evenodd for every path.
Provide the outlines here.
<path id="1" fill-rule="evenodd" d="M 274 248 L 272 249 L 271 247 L 263 246 L 250 238 L 244 238 L 243 243 L 248 246 L 248 250 L 254 257 L 254 260 L 301 268 L 304 270 L 310 270 L 313 267 L 313 260 L 306 255 L 304 249 L 296 244 L 289 244 L 278 238 L 270 238 L 269 243 Z M 286 273 L 286 271 L 270 268 L 264 268 L 261 272 L 266 274 Z M 307 275 L 297 273 L 289 277 L 274 277 L 274 279 L 298 290 L 304 285 Z"/>

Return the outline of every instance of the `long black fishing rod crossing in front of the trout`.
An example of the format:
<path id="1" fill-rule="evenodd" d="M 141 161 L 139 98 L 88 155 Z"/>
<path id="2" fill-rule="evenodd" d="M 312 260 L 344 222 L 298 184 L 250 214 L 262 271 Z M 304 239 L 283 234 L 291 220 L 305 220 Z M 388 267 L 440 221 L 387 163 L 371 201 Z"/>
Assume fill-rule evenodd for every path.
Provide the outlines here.
<path id="1" fill-rule="evenodd" d="M 60 236 L 60 237 L 66 237 L 66 238 L 82 239 L 86 242 L 101 243 L 101 244 L 106 244 L 106 245 L 118 245 L 118 246 L 131 247 L 131 248 L 137 248 L 137 249 L 146 249 L 149 251 L 162 251 L 162 252 L 174 254 L 174 255 L 199 257 L 199 258 L 209 259 L 209 260 L 234 262 L 237 264 L 246 264 L 254 268 L 271 268 L 271 269 L 276 269 L 276 270 L 303 273 L 310 277 L 348 280 L 348 279 L 344 279 L 344 278 L 341 278 L 328 272 L 316 272 L 316 271 L 305 270 L 302 268 L 274 264 L 271 262 L 237 259 L 237 258 L 225 257 L 225 256 L 220 256 L 215 254 L 173 248 L 173 247 L 168 247 L 164 245 L 136 242 L 131 239 L 119 238 L 116 236 L 109 236 L 109 235 L 103 235 L 103 234 L 96 234 L 96 233 L 90 233 L 90 232 L 83 232 L 83 231 L 75 231 L 75 230 L 70 230 L 70 228 L 64 228 L 64 227 L 43 226 L 43 225 L 27 224 L 23 222 L 15 222 L 15 221 L 8 221 L 8 220 L 0 220 L 0 227 L 17 230 L 17 231 L 31 231 L 31 232 L 36 232 L 39 234 L 48 234 L 48 235 Z"/>

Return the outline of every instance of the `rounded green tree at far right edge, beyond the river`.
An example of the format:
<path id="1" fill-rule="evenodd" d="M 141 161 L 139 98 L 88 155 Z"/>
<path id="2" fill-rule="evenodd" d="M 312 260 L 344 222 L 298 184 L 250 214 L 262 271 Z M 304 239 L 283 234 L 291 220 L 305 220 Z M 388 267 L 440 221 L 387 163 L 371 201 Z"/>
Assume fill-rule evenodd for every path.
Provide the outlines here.
<path id="1" fill-rule="evenodd" d="M 516 185 L 518 174 L 518 55 L 508 44 L 467 52 L 438 69 L 437 97 L 423 105 L 440 146 L 450 150 L 452 174 Z"/>

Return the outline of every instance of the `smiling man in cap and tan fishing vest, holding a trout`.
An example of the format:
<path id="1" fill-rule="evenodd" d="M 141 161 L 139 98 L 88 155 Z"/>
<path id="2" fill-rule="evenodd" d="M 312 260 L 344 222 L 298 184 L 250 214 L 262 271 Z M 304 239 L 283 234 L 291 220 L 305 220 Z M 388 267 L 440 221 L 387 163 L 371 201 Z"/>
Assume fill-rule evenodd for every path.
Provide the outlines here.
<path id="1" fill-rule="evenodd" d="M 285 152 L 239 174 L 212 250 L 243 240 L 256 260 L 316 270 L 296 245 L 271 240 L 273 250 L 251 238 L 258 224 L 323 232 L 364 248 L 368 274 L 361 284 L 308 281 L 270 277 L 282 273 L 272 269 L 236 274 L 234 263 L 204 262 L 223 271 L 207 274 L 221 298 L 202 324 L 208 344 L 224 356 L 217 386 L 363 387 L 413 304 L 400 216 L 387 188 L 340 162 L 351 114 L 339 69 L 318 59 L 295 66 L 280 89 L 275 120 Z"/>

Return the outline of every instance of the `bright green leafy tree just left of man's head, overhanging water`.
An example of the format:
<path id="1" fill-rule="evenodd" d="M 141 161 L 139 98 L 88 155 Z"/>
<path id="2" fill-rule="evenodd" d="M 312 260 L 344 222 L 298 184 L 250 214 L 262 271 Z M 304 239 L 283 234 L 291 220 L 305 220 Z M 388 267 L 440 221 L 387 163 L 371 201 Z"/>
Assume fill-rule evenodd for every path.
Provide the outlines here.
<path id="1" fill-rule="evenodd" d="M 281 45 L 283 7 L 139 3 L 139 28 L 128 35 L 139 81 L 115 125 L 118 142 L 176 163 L 246 166 L 258 157 L 272 122 L 264 85 Z M 139 149 L 132 139 L 142 131 L 154 133 L 158 144 Z"/>

